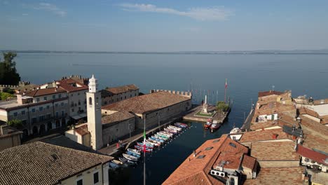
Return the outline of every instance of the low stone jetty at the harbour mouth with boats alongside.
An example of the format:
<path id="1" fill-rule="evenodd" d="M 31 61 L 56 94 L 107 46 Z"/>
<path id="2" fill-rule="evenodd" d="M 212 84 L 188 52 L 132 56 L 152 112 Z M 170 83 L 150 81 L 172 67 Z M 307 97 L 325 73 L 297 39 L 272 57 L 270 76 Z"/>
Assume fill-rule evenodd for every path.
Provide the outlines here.
<path id="1" fill-rule="evenodd" d="M 208 118 L 212 118 L 213 121 L 217 121 L 217 123 L 224 123 L 226 118 L 228 117 L 228 114 L 230 113 L 231 109 L 228 109 L 226 112 L 217 112 L 214 114 L 214 116 L 196 116 L 196 114 L 202 110 L 202 106 L 195 107 L 191 110 L 189 114 L 186 114 L 186 116 L 183 116 L 182 118 L 187 121 L 200 121 L 200 122 L 207 122 Z"/>

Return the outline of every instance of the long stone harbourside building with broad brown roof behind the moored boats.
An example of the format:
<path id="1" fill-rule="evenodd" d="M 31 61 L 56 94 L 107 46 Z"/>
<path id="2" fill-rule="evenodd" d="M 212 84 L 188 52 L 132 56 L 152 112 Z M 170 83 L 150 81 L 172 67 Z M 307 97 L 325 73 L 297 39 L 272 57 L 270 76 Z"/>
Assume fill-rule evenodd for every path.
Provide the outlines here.
<path id="1" fill-rule="evenodd" d="M 111 115 L 119 111 L 128 111 L 135 115 L 136 128 L 144 128 L 144 120 L 146 128 L 151 128 L 189 109 L 191 109 L 190 97 L 160 91 L 109 104 L 102 107 L 102 114 Z"/>

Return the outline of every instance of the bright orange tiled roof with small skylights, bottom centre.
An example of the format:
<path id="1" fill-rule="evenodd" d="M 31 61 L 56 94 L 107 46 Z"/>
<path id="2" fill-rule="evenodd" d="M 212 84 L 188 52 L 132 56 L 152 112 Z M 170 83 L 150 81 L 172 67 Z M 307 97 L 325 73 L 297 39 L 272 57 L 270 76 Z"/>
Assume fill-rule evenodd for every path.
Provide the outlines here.
<path id="1" fill-rule="evenodd" d="M 211 147 L 212 149 L 210 149 Z M 193 153 L 191 153 L 191 155 L 177 167 L 175 172 L 170 174 L 170 177 L 168 177 L 163 184 L 224 184 L 222 181 L 215 179 L 209 174 L 213 165 L 219 163 L 219 156 L 221 156 L 221 153 L 226 153 L 226 156 L 231 158 L 229 162 L 239 163 L 240 158 L 233 158 L 233 155 L 245 154 L 247 152 L 247 147 L 233 141 L 228 135 L 222 135 L 218 139 L 207 140 L 196 149 L 196 158 L 193 157 Z M 198 156 L 204 157 L 197 158 Z M 224 167 L 226 167 L 226 165 Z"/>

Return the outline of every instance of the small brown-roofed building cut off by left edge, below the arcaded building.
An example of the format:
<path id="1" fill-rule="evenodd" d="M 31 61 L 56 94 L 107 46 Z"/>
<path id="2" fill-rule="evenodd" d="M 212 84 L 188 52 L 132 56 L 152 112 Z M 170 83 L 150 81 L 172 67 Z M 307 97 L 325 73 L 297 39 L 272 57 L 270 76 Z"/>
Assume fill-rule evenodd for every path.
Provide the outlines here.
<path id="1" fill-rule="evenodd" d="M 20 138 L 22 137 L 22 132 L 9 127 L 8 125 L 0 126 L 0 151 L 4 149 L 9 149 L 13 146 L 20 145 Z"/>

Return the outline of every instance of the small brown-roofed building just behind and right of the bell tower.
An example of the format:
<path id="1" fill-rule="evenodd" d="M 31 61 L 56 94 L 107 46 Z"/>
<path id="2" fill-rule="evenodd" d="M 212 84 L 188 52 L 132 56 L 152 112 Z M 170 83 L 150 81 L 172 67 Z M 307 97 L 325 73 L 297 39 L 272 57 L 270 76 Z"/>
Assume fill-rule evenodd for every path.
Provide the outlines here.
<path id="1" fill-rule="evenodd" d="M 102 93 L 102 106 L 107 104 L 114 104 L 130 97 L 139 95 L 139 88 L 135 84 L 123 85 L 119 87 L 106 88 L 101 90 Z"/>

